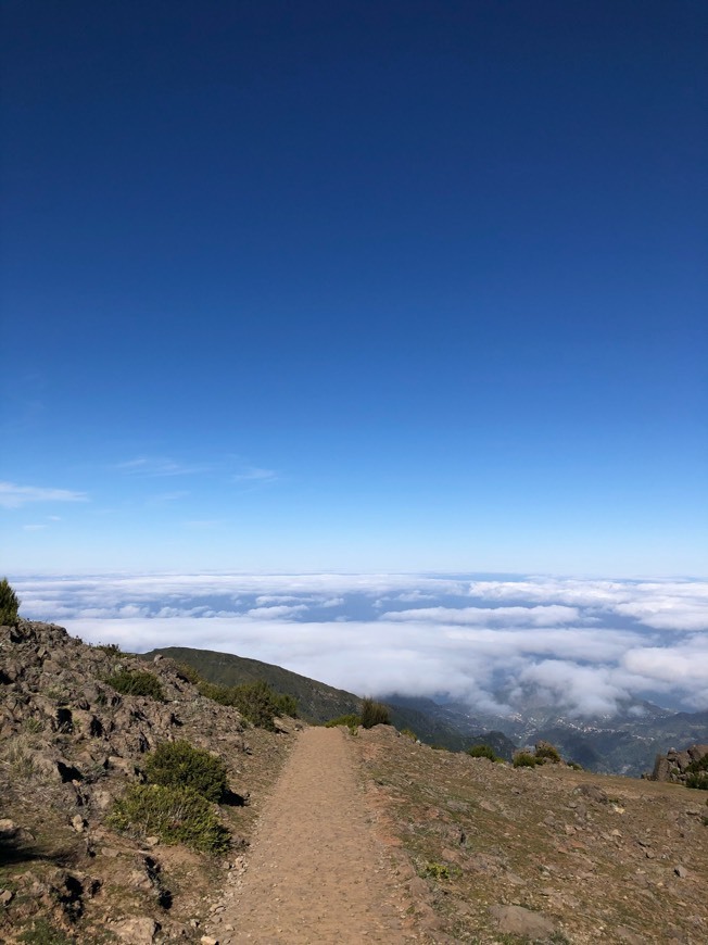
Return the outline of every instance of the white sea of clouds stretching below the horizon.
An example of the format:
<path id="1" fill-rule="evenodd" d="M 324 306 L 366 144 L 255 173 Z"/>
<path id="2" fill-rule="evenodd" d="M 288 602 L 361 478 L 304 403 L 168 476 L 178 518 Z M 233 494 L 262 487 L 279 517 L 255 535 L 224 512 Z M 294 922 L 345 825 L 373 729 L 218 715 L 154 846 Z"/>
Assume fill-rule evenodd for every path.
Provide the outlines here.
<path id="1" fill-rule="evenodd" d="M 13 580 L 21 614 L 87 643 L 192 646 L 358 694 L 528 698 L 614 714 L 708 708 L 708 582 L 420 575 L 138 575 Z"/>

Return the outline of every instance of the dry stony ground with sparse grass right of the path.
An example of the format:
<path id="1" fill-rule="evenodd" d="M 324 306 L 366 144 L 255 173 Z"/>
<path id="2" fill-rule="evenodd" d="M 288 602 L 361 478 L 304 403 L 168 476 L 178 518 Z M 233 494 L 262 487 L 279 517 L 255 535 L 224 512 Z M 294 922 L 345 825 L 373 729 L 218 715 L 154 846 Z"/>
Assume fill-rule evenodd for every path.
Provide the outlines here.
<path id="1" fill-rule="evenodd" d="M 543 912 L 556 941 L 708 940 L 700 792 L 560 766 L 514 769 L 390 729 L 354 744 L 382 821 L 426 878 L 453 941 L 504 941 L 495 904 Z"/>

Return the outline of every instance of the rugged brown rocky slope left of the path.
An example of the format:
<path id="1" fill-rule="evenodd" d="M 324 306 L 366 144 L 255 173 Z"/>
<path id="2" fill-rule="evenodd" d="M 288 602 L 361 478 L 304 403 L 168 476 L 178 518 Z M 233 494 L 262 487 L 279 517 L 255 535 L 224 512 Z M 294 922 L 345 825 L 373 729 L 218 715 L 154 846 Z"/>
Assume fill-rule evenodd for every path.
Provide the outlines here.
<path id="1" fill-rule="evenodd" d="M 104 680 L 121 670 L 148 670 L 164 702 L 116 692 Z M 248 728 L 173 660 L 147 667 L 47 623 L 0 628 L 0 941 L 200 942 L 288 735 Z M 175 739 L 228 766 L 226 858 L 106 824 L 115 798 L 143 779 L 146 753 Z"/>

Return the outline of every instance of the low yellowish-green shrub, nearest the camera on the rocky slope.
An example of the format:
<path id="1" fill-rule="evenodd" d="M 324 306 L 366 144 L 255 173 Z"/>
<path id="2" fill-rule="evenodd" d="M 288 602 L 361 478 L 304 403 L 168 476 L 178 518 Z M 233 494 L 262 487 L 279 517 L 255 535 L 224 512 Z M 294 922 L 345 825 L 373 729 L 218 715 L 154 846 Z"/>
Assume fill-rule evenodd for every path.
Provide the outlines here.
<path id="1" fill-rule="evenodd" d="M 142 836 L 156 834 L 163 843 L 184 843 L 202 853 L 225 853 L 230 845 L 213 806 L 191 788 L 132 784 L 115 802 L 109 823 Z"/>

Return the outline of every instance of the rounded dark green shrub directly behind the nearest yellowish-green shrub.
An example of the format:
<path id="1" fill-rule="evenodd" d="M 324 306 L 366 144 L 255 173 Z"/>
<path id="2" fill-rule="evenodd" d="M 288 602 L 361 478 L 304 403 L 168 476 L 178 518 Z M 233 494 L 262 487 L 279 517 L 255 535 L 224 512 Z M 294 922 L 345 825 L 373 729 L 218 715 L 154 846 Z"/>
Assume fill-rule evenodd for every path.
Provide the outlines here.
<path id="1" fill-rule="evenodd" d="M 184 739 L 157 745 L 147 756 L 144 769 L 151 783 L 162 788 L 191 788 L 207 801 L 218 803 L 228 792 L 224 761 Z"/>

